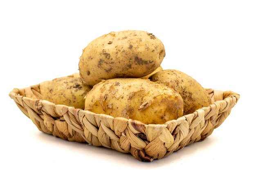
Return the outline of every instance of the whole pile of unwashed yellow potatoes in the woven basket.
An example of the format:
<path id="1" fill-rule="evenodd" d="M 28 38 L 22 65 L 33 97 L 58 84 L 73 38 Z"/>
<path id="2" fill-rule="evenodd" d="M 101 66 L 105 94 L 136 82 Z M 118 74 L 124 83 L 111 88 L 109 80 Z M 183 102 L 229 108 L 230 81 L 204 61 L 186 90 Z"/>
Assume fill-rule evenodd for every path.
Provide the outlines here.
<path id="1" fill-rule="evenodd" d="M 163 43 L 145 31 L 110 32 L 83 49 L 79 74 L 40 84 L 42 98 L 97 114 L 164 124 L 209 106 L 192 77 L 163 70 Z"/>

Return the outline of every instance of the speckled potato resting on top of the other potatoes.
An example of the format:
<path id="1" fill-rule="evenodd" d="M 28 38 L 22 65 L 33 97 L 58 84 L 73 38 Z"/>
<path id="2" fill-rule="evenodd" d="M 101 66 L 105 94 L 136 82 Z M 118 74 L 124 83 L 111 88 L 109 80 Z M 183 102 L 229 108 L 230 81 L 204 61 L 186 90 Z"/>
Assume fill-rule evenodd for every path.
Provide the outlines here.
<path id="1" fill-rule="evenodd" d="M 155 71 L 164 56 L 164 45 L 151 33 L 111 32 L 83 49 L 79 72 L 83 82 L 92 86 L 103 79 L 143 77 Z"/>

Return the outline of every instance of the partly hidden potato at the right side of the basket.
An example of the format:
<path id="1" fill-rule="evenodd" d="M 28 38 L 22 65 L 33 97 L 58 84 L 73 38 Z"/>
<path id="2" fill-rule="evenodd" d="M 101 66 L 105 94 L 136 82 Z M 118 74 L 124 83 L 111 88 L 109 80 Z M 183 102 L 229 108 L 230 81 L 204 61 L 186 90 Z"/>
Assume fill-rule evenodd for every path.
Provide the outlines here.
<path id="1" fill-rule="evenodd" d="M 192 77 L 177 70 L 163 70 L 149 77 L 153 82 L 160 82 L 180 93 L 184 102 L 184 113 L 209 106 L 211 99 L 205 89 Z"/>

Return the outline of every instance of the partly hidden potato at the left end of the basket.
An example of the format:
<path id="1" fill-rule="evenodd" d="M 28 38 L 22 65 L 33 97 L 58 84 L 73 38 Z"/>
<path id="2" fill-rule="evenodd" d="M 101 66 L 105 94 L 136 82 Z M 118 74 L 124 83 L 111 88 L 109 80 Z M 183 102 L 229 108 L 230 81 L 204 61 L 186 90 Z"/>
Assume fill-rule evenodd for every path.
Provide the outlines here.
<path id="1" fill-rule="evenodd" d="M 91 89 L 78 77 L 59 77 L 40 84 L 42 99 L 81 109 L 84 109 L 84 97 Z"/>

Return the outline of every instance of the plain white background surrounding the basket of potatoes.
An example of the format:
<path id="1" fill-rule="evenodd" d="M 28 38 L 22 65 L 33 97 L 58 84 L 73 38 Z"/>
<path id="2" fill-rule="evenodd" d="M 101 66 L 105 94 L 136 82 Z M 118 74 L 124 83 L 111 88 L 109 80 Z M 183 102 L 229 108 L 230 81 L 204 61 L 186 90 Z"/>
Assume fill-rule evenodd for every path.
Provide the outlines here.
<path id="1" fill-rule="evenodd" d="M 78 72 L 95 38 L 137 29 L 165 45 L 164 69 L 241 95 L 202 142 L 151 163 L 40 132 L 8 94 Z M 255 169 L 256 3 L 215 1 L 0 1 L 0 169 Z"/>

